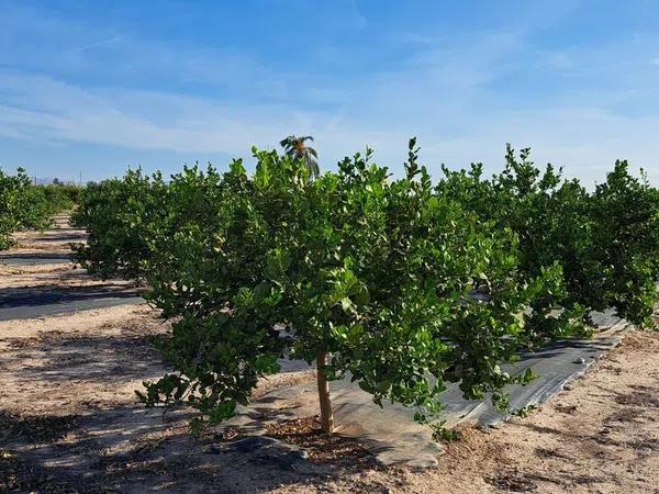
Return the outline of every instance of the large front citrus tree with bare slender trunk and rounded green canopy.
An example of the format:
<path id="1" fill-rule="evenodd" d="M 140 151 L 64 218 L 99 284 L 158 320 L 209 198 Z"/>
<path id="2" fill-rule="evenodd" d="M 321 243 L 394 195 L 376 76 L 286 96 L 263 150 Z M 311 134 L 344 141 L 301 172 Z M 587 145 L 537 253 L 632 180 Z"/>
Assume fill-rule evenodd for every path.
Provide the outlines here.
<path id="1" fill-rule="evenodd" d="M 176 234 L 157 240 L 169 257 L 153 256 L 147 296 L 176 316 L 158 346 L 177 372 L 147 383 L 145 403 L 183 401 L 217 423 L 297 358 L 317 364 L 331 431 L 326 381 L 348 372 L 377 403 L 418 407 L 426 422 L 446 382 L 505 405 L 503 388 L 530 378 L 500 364 L 526 345 L 524 308 L 560 290 L 559 270 L 518 283 L 515 235 L 434 194 L 414 149 L 399 180 L 370 151 L 316 180 L 300 160 L 255 157 L 253 177 L 237 160 L 210 188 L 197 171 L 169 186 L 217 209 L 203 224 L 177 213 Z"/>

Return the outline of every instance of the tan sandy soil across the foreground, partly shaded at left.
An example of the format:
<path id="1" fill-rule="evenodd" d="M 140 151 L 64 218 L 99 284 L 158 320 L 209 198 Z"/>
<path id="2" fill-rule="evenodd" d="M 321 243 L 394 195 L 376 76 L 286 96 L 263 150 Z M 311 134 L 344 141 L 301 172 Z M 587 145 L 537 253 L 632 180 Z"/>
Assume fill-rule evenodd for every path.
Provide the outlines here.
<path id="1" fill-rule="evenodd" d="M 62 268 L 0 283 L 60 285 Z M 0 492 L 659 493 L 659 333 L 630 333 L 527 418 L 462 427 L 437 469 L 413 471 L 332 441 L 284 461 L 190 436 L 190 411 L 145 413 L 134 390 L 168 370 L 150 346 L 167 329 L 146 305 L 0 322 Z"/>

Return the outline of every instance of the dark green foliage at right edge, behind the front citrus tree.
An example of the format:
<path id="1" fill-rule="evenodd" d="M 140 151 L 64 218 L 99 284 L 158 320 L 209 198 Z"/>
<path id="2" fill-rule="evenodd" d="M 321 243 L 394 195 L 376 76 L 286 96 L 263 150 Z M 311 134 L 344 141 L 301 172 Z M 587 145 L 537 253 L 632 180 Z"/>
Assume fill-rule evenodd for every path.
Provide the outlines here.
<path id="1" fill-rule="evenodd" d="M 500 175 L 484 179 L 480 164 L 468 171 L 445 167 L 437 190 L 496 227 L 511 228 L 520 239 L 523 276 L 559 265 L 563 291 L 552 303 L 584 326 L 591 311 L 610 307 L 649 326 L 659 279 L 659 191 L 628 168 L 616 161 L 589 193 L 551 165 L 536 168 L 529 149 L 516 157 L 509 145 Z"/>

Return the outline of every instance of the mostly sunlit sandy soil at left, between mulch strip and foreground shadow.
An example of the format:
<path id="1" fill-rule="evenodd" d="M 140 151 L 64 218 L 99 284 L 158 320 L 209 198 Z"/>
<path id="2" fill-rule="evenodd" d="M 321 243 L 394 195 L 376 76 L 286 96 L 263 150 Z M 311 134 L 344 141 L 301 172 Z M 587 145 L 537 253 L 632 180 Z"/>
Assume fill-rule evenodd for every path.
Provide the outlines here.
<path id="1" fill-rule="evenodd" d="M 142 381 L 166 371 L 148 345 L 165 329 L 146 305 L 0 322 L 0 406 L 69 415 L 134 403 Z"/>

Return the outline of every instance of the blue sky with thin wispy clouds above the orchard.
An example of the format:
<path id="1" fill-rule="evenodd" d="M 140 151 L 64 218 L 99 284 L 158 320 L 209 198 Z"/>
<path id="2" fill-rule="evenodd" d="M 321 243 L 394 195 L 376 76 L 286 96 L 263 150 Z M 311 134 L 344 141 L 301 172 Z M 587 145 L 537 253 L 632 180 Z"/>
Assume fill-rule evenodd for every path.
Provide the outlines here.
<path id="1" fill-rule="evenodd" d="M 659 183 L 659 2 L 0 0 L 0 166 L 83 180 L 249 157 L 312 134 L 433 173 L 506 142 Z"/>

